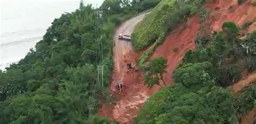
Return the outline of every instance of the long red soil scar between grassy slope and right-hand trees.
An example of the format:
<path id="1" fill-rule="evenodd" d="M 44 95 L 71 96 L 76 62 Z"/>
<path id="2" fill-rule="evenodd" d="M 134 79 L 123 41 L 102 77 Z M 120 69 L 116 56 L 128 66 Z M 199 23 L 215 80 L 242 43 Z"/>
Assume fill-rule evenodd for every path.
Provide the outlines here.
<path id="1" fill-rule="evenodd" d="M 167 59 L 167 73 L 164 74 L 164 80 L 168 85 L 172 84 L 172 72 L 181 63 L 181 60 L 186 51 L 196 48 L 194 38 L 196 37 L 197 31 L 200 28 L 198 19 L 199 16 L 196 15 L 188 21 L 188 26 L 185 29 L 183 26 L 178 27 L 177 30 L 166 37 L 164 43 L 160 45 L 156 51 L 154 51 L 151 57 L 151 59 L 157 57 L 164 57 Z M 174 49 L 178 50 L 174 52 Z M 163 82 L 161 85 L 163 85 Z M 158 91 L 160 87 L 154 85 L 152 88 L 154 91 Z"/>

